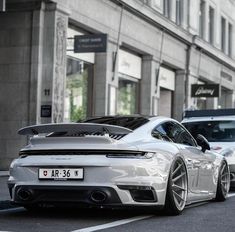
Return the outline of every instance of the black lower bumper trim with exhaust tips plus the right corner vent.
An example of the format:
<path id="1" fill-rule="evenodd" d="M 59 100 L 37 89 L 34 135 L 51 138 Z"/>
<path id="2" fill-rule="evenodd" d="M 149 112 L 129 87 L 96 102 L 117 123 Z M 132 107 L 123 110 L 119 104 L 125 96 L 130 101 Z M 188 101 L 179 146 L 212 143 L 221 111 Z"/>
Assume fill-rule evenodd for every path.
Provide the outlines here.
<path id="1" fill-rule="evenodd" d="M 48 186 L 48 185 L 14 185 L 8 184 L 10 195 L 15 204 L 74 204 L 102 207 L 123 206 L 118 195 L 119 188 L 107 186 Z M 130 205 L 158 205 L 157 195 L 153 188 L 125 186 L 132 197 Z M 128 189 L 129 188 L 129 189 Z M 120 189 L 120 191 L 124 191 Z M 128 203 L 126 204 L 128 205 Z"/>

